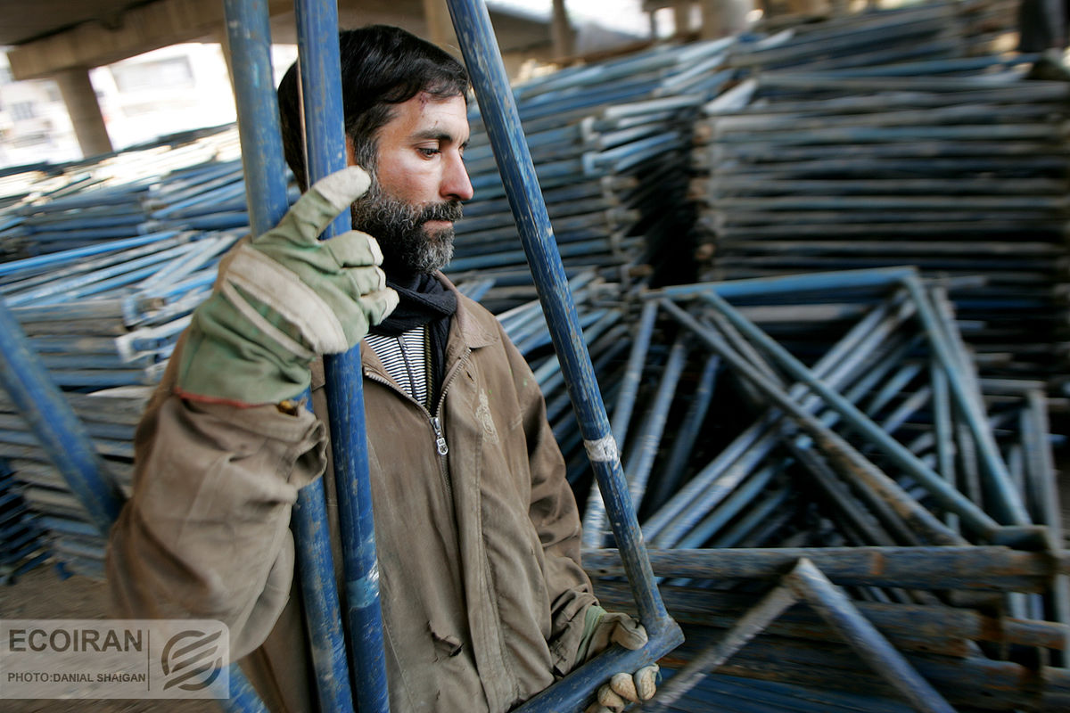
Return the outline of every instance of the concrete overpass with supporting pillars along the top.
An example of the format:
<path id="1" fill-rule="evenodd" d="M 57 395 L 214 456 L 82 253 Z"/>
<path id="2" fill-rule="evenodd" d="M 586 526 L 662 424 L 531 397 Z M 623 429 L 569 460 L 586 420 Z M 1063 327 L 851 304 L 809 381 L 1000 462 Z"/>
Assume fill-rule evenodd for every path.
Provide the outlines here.
<path id="1" fill-rule="evenodd" d="M 0 0 L 0 45 L 15 79 L 55 79 L 87 156 L 111 151 L 89 71 L 184 42 L 226 42 L 221 0 Z M 489 3 L 490 4 L 490 3 Z M 272 37 L 295 43 L 292 0 L 268 0 Z M 456 48 L 445 0 L 340 0 L 339 22 L 397 25 Z M 572 55 L 564 0 L 550 21 L 495 9 L 491 20 L 506 63 Z M 454 49 L 455 53 L 456 49 Z"/>

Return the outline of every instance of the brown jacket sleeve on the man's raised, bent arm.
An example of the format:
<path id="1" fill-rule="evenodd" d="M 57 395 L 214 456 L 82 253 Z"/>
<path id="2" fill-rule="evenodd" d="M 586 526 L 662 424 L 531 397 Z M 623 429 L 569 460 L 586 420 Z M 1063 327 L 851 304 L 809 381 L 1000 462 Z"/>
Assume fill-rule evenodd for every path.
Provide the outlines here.
<path id="1" fill-rule="evenodd" d="M 234 660 L 260 646 L 289 599 L 290 510 L 323 471 L 325 440 L 303 409 L 190 403 L 162 386 L 138 425 L 133 494 L 110 532 L 116 614 L 220 620 Z"/>

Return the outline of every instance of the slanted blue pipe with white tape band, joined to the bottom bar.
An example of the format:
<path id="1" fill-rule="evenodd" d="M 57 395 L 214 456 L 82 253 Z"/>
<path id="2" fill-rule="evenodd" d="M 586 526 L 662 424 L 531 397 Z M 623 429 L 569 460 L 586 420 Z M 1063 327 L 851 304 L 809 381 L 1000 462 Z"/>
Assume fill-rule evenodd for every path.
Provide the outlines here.
<path id="1" fill-rule="evenodd" d="M 608 675 L 635 670 L 638 664 L 656 661 L 678 646 L 683 634 L 669 617 L 658 593 L 636 512 L 628 501 L 620 454 L 613 443 L 591 356 L 583 344 L 576 306 L 568 292 L 564 265 L 553 243 L 550 218 L 520 130 L 520 117 L 494 43 L 490 16 L 486 5 L 476 0 L 447 0 L 447 4 L 487 134 L 494 146 L 539 299 L 547 312 L 554 348 L 567 376 L 584 446 L 606 499 L 613 533 L 627 562 L 628 580 L 636 594 L 640 620 L 649 634 L 649 642 L 643 650 L 625 652 L 612 649 L 608 655 L 597 656 L 519 710 L 578 708 L 598 685 L 608 680 Z M 612 662 L 616 656 L 622 661 Z"/>

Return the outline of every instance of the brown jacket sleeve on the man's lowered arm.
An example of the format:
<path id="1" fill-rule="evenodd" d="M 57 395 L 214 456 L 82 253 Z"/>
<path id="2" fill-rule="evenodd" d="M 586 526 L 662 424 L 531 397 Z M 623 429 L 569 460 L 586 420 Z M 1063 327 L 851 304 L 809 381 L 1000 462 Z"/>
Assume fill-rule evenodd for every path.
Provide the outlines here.
<path id="1" fill-rule="evenodd" d="M 580 516 L 565 478 L 565 460 L 546 418 L 546 402 L 531 368 L 504 337 L 509 352 L 528 438 L 531 467 L 529 515 L 542 544 L 551 602 L 550 651 L 559 675 L 577 663 L 587 607 L 596 604 L 591 579 L 580 563 Z"/>

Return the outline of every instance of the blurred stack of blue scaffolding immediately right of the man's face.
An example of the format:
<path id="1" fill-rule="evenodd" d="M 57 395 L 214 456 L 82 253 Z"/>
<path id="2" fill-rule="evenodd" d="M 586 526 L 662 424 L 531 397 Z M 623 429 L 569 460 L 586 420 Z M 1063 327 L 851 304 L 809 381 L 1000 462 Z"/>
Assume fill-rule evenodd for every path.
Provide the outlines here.
<path id="1" fill-rule="evenodd" d="M 547 75 L 516 89 L 532 160 L 570 277 L 597 267 L 613 279 L 686 270 L 693 215 L 685 199 L 698 108 L 734 76 L 734 38 L 662 46 Z M 505 190 L 477 109 L 465 165 L 475 198 L 457 224 L 450 276 L 493 278 L 485 297 L 501 312 L 534 298 Z M 693 274 L 687 275 L 687 279 Z"/>

